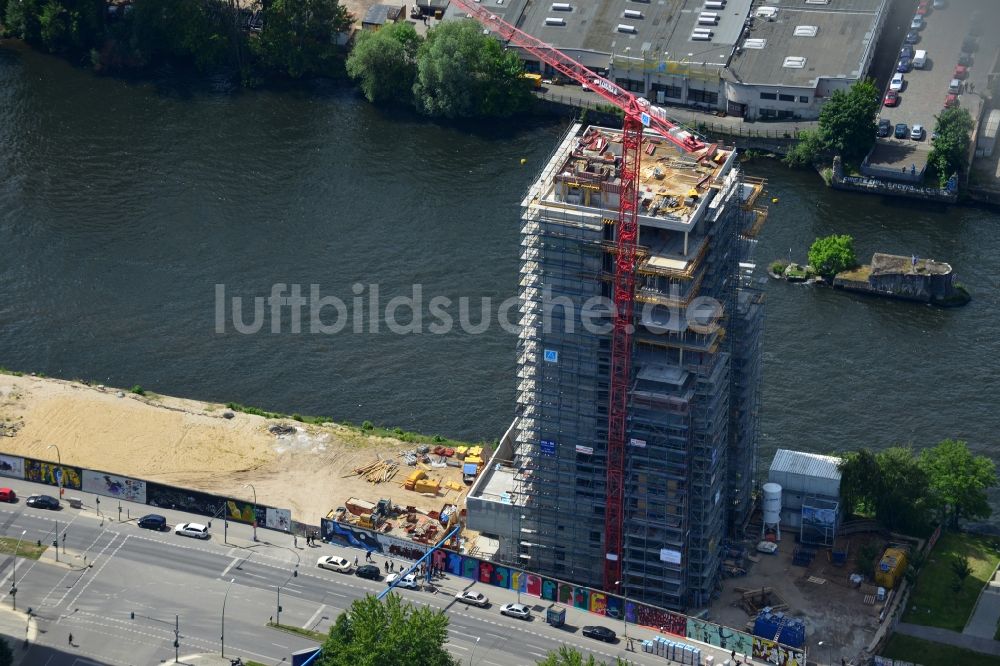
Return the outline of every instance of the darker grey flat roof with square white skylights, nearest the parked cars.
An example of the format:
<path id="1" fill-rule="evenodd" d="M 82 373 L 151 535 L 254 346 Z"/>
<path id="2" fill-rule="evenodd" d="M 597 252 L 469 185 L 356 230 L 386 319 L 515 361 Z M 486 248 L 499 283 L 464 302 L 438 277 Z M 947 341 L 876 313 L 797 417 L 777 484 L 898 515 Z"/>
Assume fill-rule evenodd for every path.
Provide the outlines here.
<path id="1" fill-rule="evenodd" d="M 813 87 L 859 79 L 886 0 L 782 0 L 755 6 L 729 72 L 751 85 Z"/>

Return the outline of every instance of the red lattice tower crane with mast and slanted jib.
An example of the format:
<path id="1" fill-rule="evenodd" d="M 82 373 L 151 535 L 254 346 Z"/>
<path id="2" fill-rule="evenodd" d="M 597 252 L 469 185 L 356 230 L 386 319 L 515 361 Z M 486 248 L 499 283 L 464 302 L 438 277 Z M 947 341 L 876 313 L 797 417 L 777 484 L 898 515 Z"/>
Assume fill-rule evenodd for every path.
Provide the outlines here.
<path id="1" fill-rule="evenodd" d="M 581 63 L 545 42 L 524 33 L 473 0 L 451 0 L 493 34 L 506 40 L 561 75 L 591 88 L 625 112 L 618 205 L 614 278 L 614 326 L 611 338 L 611 382 L 608 404 L 607 496 L 604 513 L 604 589 L 617 592 L 622 584 L 622 527 L 625 522 L 625 437 L 627 436 L 628 383 L 632 359 L 632 314 L 635 304 L 635 269 L 639 241 L 639 150 L 642 131 L 648 126 L 686 152 L 705 144 L 671 122 L 663 109 L 622 90 L 597 76 Z"/>

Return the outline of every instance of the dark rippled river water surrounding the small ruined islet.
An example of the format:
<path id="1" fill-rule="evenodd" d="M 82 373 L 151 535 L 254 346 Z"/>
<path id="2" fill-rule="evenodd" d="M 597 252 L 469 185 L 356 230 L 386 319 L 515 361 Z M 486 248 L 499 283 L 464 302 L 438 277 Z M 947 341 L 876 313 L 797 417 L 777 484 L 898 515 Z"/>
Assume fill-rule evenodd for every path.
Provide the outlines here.
<path id="1" fill-rule="evenodd" d="M 437 125 L 334 85 L 124 82 L 7 44 L 0 364 L 499 437 L 513 411 L 516 340 L 495 322 L 516 293 L 518 204 L 564 129 Z M 769 282 L 762 465 L 779 447 L 920 448 L 945 437 L 1000 459 L 1000 216 L 837 193 L 770 161 L 747 172 L 777 199 L 760 266 L 848 233 L 865 259 L 880 250 L 952 263 L 974 298 L 945 310 Z M 360 291 L 361 330 L 361 308 L 321 313 L 324 325 L 346 324 L 339 333 L 312 330 L 304 309 L 295 333 L 291 308 L 273 320 L 265 303 L 261 330 L 239 332 L 252 299 L 275 284 L 302 285 L 303 296 L 316 284 L 348 307 Z M 425 313 L 431 298 L 451 299 L 454 330 L 434 333 L 430 318 L 419 334 L 387 329 L 389 299 L 414 284 Z M 458 325 L 461 297 L 470 324 L 491 299 L 493 325 Z"/>

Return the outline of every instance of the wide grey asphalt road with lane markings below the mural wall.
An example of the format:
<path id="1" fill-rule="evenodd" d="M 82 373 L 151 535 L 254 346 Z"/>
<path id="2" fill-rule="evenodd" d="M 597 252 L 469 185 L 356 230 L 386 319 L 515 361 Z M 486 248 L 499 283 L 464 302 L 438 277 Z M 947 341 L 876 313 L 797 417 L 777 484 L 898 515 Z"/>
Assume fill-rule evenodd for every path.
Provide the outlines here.
<path id="1" fill-rule="evenodd" d="M 301 541 L 296 547 L 289 535 L 265 530 L 259 533 L 261 542 L 255 543 L 252 528 L 245 525 L 230 524 L 224 537 L 218 521 L 213 522 L 211 539 L 188 539 L 139 529 L 134 520 L 147 507 L 123 503 L 122 522 L 117 521 L 117 502 L 107 498 L 102 508 L 111 509 L 115 520 L 97 515 L 93 497 L 88 498 L 90 506 L 81 510 L 64 504 L 61 511 L 44 511 L 27 507 L 23 498 L 30 492 L 54 495 L 53 489 L 11 480 L 0 485 L 13 487 L 22 497 L 16 504 L 0 504 L 3 535 L 16 538 L 24 531 L 28 542 L 51 543 L 55 534 L 66 534 L 65 552 L 60 536 L 60 562 L 55 561 L 51 547 L 38 561 L 18 561 L 17 607 L 32 608 L 32 625 L 10 612 L 13 557 L 0 561 L 0 606 L 4 608 L 0 628 L 18 644 L 27 630 L 30 647 L 24 664 L 146 666 L 173 661 L 175 618 L 181 656 L 220 654 L 224 599 L 226 656 L 278 664 L 292 651 L 315 643 L 266 627 L 277 612 L 277 586 L 281 586 L 281 622 L 324 633 L 354 599 L 383 588 L 316 567 L 320 555 L 339 553 L 352 559 L 356 553 L 348 549 L 307 548 Z M 67 491 L 67 497 L 71 495 L 79 493 Z M 179 512 L 157 512 L 170 525 L 202 520 Z M 381 558 L 376 559 L 381 565 Z M 454 602 L 456 591 L 473 586 L 491 598 L 491 608 Z M 402 590 L 401 594 L 448 613 L 449 650 L 463 663 L 534 664 L 562 643 L 593 654 L 599 661 L 613 662 L 620 656 L 636 664 L 663 663 L 653 655 L 626 652 L 623 642 L 605 644 L 584 638 L 579 632 L 583 622 L 576 620 L 599 623 L 594 616 L 587 620 L 587 615 L 571 611 L 570 626 L 557 629 L 542 617 L 525 622 L 501 616 L 499 606 L 514 601 L 515 592 L 457 577 L 445 578 L 439 587 L 437 593 Z M 523 601 L 530 605 L 538 600 L 525 597 Z M 542 607 L 536 606 L 537 611 Z M 620 623 L 609 620 L 605 624 L 622 634 Z M 629 633 L 653 635 L 635 627 Z M 716 653 L 717 659 L 721 654 Z"/>

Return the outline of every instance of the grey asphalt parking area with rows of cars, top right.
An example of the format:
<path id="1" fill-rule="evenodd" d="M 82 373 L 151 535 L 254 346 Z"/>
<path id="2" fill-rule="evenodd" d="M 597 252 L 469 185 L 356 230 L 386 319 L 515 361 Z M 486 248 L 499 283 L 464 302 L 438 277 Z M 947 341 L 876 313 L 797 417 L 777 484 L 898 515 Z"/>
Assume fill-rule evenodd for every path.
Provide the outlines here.
<path id="1" fill-rule="evenodd" d="M 911 3 L 905 3 L 910 5 Z M 928 3 L 930 4 L 930 3 Z M 916 3 L 912 3 L 915 6 Z M 919 30 L 919 39 L 913 44 L 914 50 L 927 52 L 927 62 L 923 69 L 912 69 L 904 73 L 904 86 L 899 93 L 899 105 L 884 107 L 882 118 L 888 118 L 893 126 L 905 123 L 908 127 L 920 124 L 926 131 L 922 141 L 909 137 L 879 139 L 876 149 L 869 158 L 869 164 L 886 170 L 915 171 L 920 173 L 927 163 L 927 155 L 932 144 L 930 135 L 934 131 L 935 116 L 944 108 L 948 95 L 948 84 L 954 78 L 963 41 L 969 35 L 974 14 L 978 12 L 975 24 L 980 26 L 977 37 L 978 47 L 973 53 L 974 62 L 968 77 L 963 81 L 959 104 L 967 108 L 976 118 L 982 105 L 982 97 L 975 91 L 985 91 L 987 74 L 992 69 L 1000 47 L 1000 36 L 990 26 L 1000 25 L 1000 2 L 996 0 L 948 0 L 943 9 L 929 9 L 924 16 L 925 24 Z M 912 17 L 912 15 L 911 15 Z M 902 47 L 903 38 L 910 31 L 907 17 L 902 21 L 895 16 L 887 25 L 883 39 L 896 42 L 896 53 Z M 882 93 L 885 94 L 888 83 Z"/>

